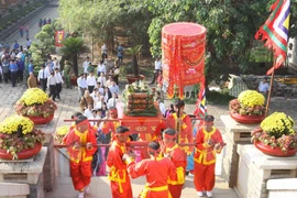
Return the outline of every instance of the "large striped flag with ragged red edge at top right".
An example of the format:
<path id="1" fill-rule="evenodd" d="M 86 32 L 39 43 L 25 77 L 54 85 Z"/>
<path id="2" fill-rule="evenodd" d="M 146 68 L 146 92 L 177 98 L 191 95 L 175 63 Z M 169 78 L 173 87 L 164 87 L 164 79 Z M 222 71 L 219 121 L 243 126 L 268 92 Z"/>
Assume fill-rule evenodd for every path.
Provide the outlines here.
<path id="1" fill-rule="evenodd" d="M 271 10 L 272 13 L 270 18 L 255 34 L 256 40 L 265 40 L 265 46 L 272 48 L 276 57 L 276 63 L 273 68 L 267 72 L 267 75 L 274 69 L 279 68 L 286 61 L 290 0 L 276 0 L 271 7 Z"/>

